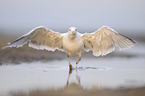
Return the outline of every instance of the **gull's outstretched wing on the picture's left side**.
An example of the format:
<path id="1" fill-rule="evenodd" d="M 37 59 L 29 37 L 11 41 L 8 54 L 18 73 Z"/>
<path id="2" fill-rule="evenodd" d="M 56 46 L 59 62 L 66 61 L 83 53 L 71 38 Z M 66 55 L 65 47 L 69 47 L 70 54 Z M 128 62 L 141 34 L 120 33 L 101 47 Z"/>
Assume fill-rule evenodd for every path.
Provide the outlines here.
<path id="1" fill-rule="evenodd" d="M 46 49 L 49 51 L 63 50 L 62 48 L 62 34 L 53 32 L 45 27 L 37 27 L 28 34 L 21 36 L 12 43 L 8 43 L 7 47 L 22 47 L 29 42 L 29 47 L 35 49 Z"/>

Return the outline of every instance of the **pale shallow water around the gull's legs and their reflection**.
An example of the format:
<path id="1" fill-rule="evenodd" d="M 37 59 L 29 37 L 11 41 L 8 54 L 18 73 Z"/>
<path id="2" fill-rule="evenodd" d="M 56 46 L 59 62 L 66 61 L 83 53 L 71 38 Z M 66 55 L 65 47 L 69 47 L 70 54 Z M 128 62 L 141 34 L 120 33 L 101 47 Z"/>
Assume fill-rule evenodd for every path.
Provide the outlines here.
<path id="1" fill-rule="evenodd" d="M 35 90 L 104 90 L 145 86 L 145 52 L 140 44 L 122 53 L 133 57 L 87 58 L 76 66 L 67 59 L 0 66 L 0 96 L 29 96 Z M 116 54 L 119 54 L 116 53 Z M 15 94 L 15 95 L 14 95 Z M 19 96 L 19 95 L 17 95 Z M 33 95 L 32 95 L 33 96 Z M 35 95 L 34 95 L 35 96 Z"/>

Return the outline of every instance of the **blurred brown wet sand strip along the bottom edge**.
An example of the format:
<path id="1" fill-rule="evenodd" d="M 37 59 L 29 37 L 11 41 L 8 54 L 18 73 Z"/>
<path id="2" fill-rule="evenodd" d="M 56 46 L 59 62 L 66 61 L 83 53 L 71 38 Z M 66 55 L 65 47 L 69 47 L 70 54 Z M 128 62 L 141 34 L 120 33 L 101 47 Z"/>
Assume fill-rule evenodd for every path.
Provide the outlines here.
<path id="1" fill-rule="evenodd" d="M 74 86 L 74 85 L 71 85 Z M 11 93 L 11 96 L 144 96 L 145 88 L 134 88 L 134 89 L 123 89 L 123 90 L 78 90 L 75 87 L 75 90 L 68 91 L 69 89 L 65 88 L 64 90 L 35 90 L 26 94 L 24 92 L 20 93 Z"/>

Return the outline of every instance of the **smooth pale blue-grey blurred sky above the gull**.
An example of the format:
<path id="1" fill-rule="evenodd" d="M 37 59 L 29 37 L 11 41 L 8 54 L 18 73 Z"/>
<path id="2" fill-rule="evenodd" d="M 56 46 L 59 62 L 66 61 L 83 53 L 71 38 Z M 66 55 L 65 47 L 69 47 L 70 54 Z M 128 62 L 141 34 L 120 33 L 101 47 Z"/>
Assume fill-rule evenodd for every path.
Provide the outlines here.
<path id="1" fill-rule="evenodd" d="M 93 32 L 110 26 L 145 35 L 145 0 L 0 0 L 0 33 L 24 34 L 37 26 Z"/>

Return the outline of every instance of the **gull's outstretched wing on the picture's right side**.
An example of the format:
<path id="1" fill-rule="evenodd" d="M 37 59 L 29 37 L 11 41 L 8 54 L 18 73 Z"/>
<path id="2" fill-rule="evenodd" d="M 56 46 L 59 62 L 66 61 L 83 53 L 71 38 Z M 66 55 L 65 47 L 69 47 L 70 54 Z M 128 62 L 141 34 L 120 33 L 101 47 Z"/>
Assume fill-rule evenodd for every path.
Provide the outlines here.
<path id="1" fill-rule="evenodd" d="M 102 26 L 94 33 L 85 33 L 82 39 L 84 41 L 85 50 L 92 50 L 95 56 L 103 56 L 111 53 L 115 50 L 115 46 L 118 47 L 119 50 L 122 50 L 132 47 L 133 43 L 135 43 L 132 39 L 106 26 Z"/>

